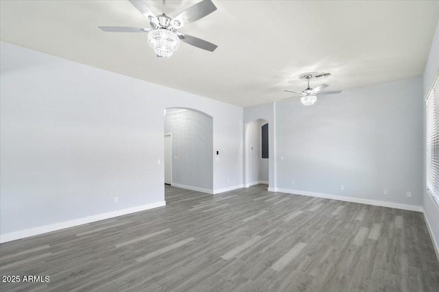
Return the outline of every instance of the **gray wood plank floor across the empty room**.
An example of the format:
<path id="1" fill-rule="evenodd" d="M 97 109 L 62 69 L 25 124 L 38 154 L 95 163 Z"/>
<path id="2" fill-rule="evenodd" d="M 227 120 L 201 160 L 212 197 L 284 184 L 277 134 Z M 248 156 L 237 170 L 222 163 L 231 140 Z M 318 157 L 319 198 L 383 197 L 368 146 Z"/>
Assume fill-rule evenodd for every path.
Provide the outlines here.
<path id="1" fill-rule="evenodd" d="M 420 212 L 165 186 L 167 206 L 0 245 L 1 291 L 439 291 Z"/>

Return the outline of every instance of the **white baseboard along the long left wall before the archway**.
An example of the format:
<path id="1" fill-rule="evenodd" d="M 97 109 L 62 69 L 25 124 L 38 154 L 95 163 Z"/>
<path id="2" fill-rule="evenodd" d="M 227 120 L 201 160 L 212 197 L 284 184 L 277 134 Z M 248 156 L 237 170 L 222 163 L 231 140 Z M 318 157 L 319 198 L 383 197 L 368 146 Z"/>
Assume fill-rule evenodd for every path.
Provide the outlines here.
<path id="1" fill-rule="evenodd" d="M 98 215 L 73 219 L 73 220 L 69 220 L 69 221 L 63 221 L 63 222 L 59 222 L 59 223 L 49 224 L 49 225 L 45 225 L 45 226 L 39 226 L 39 227 L 35 227 L 35 228 L 29 228 L 29 229 L 25 229 L 25 230 L 19 230 L 19 231 L 15 231 L 15 232 L 6 233 L 6 234 L 1 234 L 0 235 L 0 243 L 14 241 L 16 239 L 24 239 L 25 237 L 29 237 L 29 236 L 34 236 L 34 235 L 43 234 L 43 233 L 47 233 L 47 232 L 51 232 L 51 231 L 61 230 L 64 228 L 71 228 L 74 226 L 80 226 L 80 225 L 86 224 L 86 223 L 101 221 L 101 220 L 110 219 L 113 217 L 119 217 L 122 215 L 131 214 L 134 212 L 140 212 L 140 211 L 149 210 L 152 208 L 162 207 L 165 205 L 166 205 L 165 201 L 156 202 L 156 203 L 152 203 L 152 204 L 146 204 L 146 205 L 142 205 L 142 206 L 136 206 L 136 207 L 132 207 L 132 208 L 126 208 L 126 209 L 106 212 L 106 213 L 102 213 L 102 214 L 98 214 Z"/>

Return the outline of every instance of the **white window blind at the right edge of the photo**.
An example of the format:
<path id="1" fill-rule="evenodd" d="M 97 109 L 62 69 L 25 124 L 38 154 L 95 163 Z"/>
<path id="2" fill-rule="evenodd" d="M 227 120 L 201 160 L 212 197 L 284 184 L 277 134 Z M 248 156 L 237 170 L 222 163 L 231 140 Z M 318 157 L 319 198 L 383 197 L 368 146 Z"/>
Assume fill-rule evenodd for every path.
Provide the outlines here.
<path id="1" fill-rule="evenodd" d="M 439 204 L 439 77 L 427 97 L 427 189 Z"/>

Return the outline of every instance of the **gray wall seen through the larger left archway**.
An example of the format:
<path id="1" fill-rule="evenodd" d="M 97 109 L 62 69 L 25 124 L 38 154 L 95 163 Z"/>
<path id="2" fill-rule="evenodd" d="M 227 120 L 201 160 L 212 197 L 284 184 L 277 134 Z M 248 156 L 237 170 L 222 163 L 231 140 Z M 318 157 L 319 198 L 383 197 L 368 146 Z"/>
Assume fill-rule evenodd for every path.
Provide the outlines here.
<path id="1" fill-rule="evenodd" d="M 172 134 L 172 184 L 213 191 L 212 117 L 193 110 L 169 108 L 165 133 Z"/>

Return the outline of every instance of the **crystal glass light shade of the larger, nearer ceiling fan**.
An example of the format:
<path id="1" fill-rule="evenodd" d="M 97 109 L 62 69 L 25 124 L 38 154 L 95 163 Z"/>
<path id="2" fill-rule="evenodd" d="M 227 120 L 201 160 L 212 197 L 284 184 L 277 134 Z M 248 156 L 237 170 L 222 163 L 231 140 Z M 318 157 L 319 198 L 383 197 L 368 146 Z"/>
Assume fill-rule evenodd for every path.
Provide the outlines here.
<path id="1" fill-rule="evenodd" d="M 170 57 L 180 47 L 180 39 L 175 32 L 159 28 L 148 33 L 148 44 L 158 56 Z"/>

